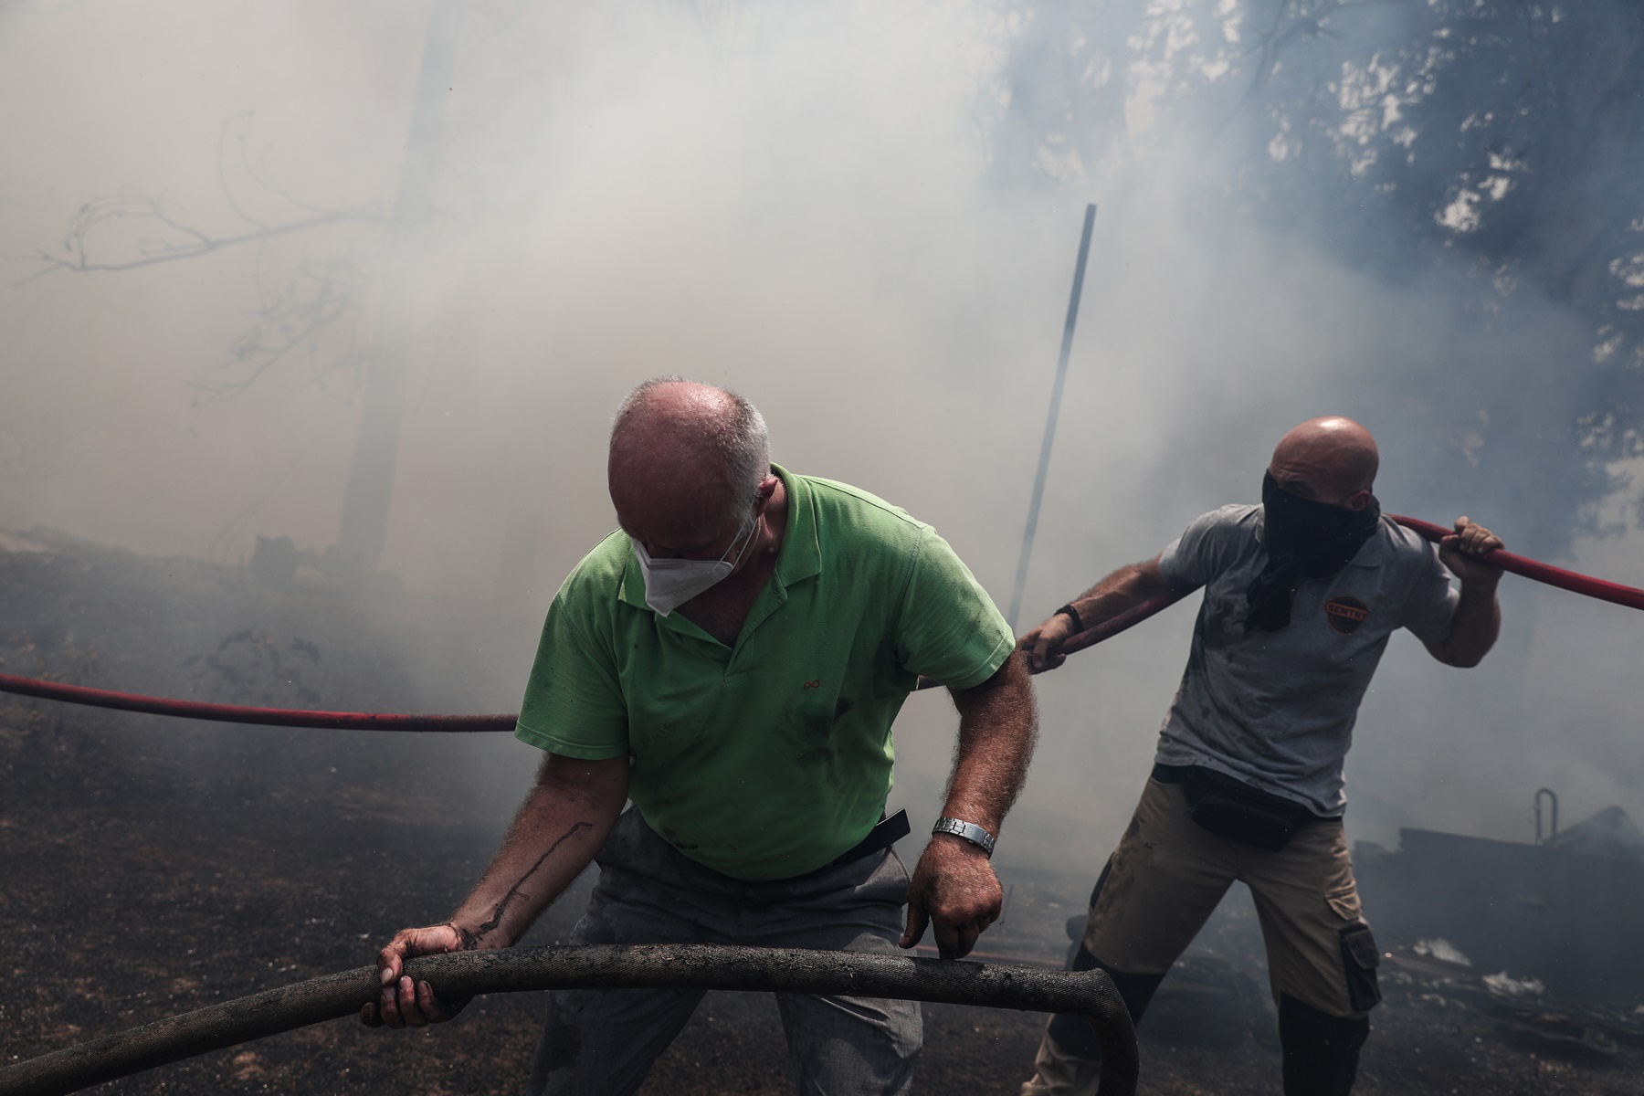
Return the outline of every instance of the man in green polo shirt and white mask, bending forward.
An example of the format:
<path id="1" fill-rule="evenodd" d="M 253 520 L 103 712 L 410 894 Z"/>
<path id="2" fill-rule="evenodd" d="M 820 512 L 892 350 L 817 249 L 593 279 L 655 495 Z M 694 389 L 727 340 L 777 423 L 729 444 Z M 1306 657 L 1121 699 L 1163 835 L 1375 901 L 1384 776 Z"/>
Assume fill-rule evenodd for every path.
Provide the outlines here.
<path id="1" fill-rule="evenodd" d="M 516 735 L 536 787 L 467 900 L 378 956 L 370 1025 L 462 1002 L 413 983 L 413 955 L 518 940 L 600 864 L 574 943 L 970 951 L 1000 914 L 988 863 L 1021 789 L 1034 703 L 1014 638 L 931 526 L 769 463 L 740 396 L 646 381 L 616 412 L 620 529 L 549 606 Z M 958 751 L 909 882 L 881 822 L 891 723 L 919 675 L 952 692 Z M 633 808 L 623 812 L 626 800 Z M 906 922 L 901 907 L 907 905 Z M 633 1093 L 699 991 L 556 991 L 526 1091 Z M 906 1093 L 911 1002 L 781 994 L 801 1088 Z"/>

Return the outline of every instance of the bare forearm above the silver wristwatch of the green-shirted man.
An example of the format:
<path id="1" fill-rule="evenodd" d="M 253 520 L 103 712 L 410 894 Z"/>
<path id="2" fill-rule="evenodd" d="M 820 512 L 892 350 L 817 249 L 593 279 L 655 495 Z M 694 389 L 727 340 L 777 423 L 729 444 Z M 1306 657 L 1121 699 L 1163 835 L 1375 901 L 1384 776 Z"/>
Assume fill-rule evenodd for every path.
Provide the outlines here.
<path id="1" fill-rule="evenodd" d="M 975 688 L 955 690 L 958 746 L 942 813 L 1000 831 L 1028 777 L 1039 716 L 1032 679 L 1019 654 Z"/>

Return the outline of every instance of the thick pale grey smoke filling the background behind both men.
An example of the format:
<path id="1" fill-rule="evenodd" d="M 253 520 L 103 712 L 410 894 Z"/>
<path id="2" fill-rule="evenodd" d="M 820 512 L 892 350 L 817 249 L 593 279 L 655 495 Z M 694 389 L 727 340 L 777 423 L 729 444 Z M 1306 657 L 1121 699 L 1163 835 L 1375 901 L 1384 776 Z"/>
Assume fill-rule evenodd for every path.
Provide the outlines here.
<path id="1" fill-rule="evenodd" d="M 1218 5 L 1223 36 L 1254 7 Z M 408 251 L 380 219 L 426 5 L 0 7 L 0 527 L 227 562 L 256 534 L 334 544 L 360 363 L 393 347 L 414 375 L 383 565 L 493 598 L 505 527 L 538 531 L 495 610 L 511 638 L 488 656 L 495 707 L 523 685 L 523 621 L 613 523 L 608 414 L 658 373 L 737 388 L 776 460 L 934 523 L 1003 603 L 1095 200 L 1023 624 L 1195 514 L 1254 501 L 1274 440 L 1323 412 L 1381 439 L 1386 509 L 1568 542 L 1570 480 L 1545 454 L 1573 449 L 1582 408 L 1539 363 L 1585 355 L 1588 319 L 1527 284 L 1486 324 L 1470 260 L 1389 274 L 1404 251 L 1328 228 L 1356 176 L 1297 187 L 1276 219 L 1253 181 L 1282 146 L 1245 140 L 1271 118 L 1223 76 L 1249 49 L 1194 46 L 1194 5 L 1075 10 L 1059 26 L 1034 5 L 469 3 L 436 217 Z M 1184 74 L 1198 99 L 1172 90 Z M 171 223 L 99 223 L 94 265 L 339 219 L 54 268 L 77 255 L 62 233 L 81 204 L 109 197 Z M 276 353 L 293 301 L 307 311 Z M 1575 562 L 1644 583 L 1628 544 L 1580 541 Z M 1619 700 L 1637 623 L 1514 580 L 1504 601 L 1480 670 L 1391 644 L 1350 764 L 1356 836 L 1527 838 L 1542 784 L 1572 818 L 1644 810 Z M 1184 605 L 1041 679 L 1013 858 L 1100 859 L 1190 619 Z M 899 802 L 935 810 L 952 728 L 942 698 L 909 700 Z M 496 781 L 516 784 L 506 756 Z"/>

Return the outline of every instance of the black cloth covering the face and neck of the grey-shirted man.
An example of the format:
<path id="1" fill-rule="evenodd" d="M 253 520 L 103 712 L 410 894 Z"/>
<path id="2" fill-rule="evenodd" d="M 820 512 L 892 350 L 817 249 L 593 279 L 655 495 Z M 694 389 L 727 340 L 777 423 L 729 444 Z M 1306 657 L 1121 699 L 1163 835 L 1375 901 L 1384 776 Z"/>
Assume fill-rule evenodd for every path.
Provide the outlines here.
<path id="1" fill-rule="evenodd" d="M 1381 521 L 1371 495 L 1365 509 L 1348 509 L 1291 495 L 1271 475 L 1261 477 L 1263 532 L 1268 565 L 1249 583 L 1245 631 L 1279 631 L 1291 623 L 1291 600 L 1304 578 L 1323 578 L 1346 567 Z"/>

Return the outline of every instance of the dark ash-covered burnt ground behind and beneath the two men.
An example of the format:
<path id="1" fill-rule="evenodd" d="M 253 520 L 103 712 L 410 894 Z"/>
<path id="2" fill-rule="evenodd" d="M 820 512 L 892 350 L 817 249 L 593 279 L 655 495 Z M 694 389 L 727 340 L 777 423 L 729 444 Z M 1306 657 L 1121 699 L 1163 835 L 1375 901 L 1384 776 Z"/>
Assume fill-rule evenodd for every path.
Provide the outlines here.
<path id="1" fill-rule="evenodd" d="M 253 705 L 495 711 L 511 708 L 533 631 L 495 621 L 487 606 L 350 596 L 316 575 L 268 588 L 233 567 L 41 531 L 0 539 L 0 672 L 15 675 Z M 0 695 L 0 1061 L 362 966 L 396 928 L 444 917 L 513 807 L 475 762 L 498 748 Z M 1006 915 L 983 950 L 1059 963 L 1092 881 L 1003 876 Z M 564 938 L 587 886 L 526 942 Z M 1503 997 L 1481 971 L 1383 943 L 1388 1001 L 1358 1091 L 1644 1091 L 1644 1022 L 1631 1009 Z M 1279 1091 L 1261 963 L 1254 914 L 1235 894 L 1143 1025 L 1143 1093 Z M 513 1091 L 539 1011 L 536 996 L 508 994 L 423 1032 L 322 1024 L 109 1089 Z M 1014 1093 L 1041 1027 L 1031 1014 L 926 1006 L 916 1091 Z M 774 1004 L 710 994 L 643 1091 L 792 1091 Z"/>

